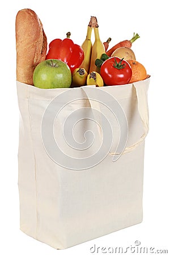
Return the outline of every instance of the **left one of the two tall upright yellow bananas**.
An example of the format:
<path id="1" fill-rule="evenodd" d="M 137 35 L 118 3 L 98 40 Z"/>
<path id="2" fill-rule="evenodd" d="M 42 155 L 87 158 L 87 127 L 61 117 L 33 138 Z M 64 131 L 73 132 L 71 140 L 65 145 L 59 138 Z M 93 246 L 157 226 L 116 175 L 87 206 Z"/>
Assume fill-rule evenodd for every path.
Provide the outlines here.
<path id="1" fill-rule="evenodd" d="M 82 49 L 84 51 L 84 60 L 80 65 L 80 68 L 86 69 L 87 73 L 89 72 L 89 69 L 90 69 L 91 51 L 92 51 L 91 32 L 92 32 L 92 26 L 91 26 L 91 20 L 90 20 L 90 23 L 88 24 L 88 27 L 87 27 L 86 39 L 82 44 Z"/>

